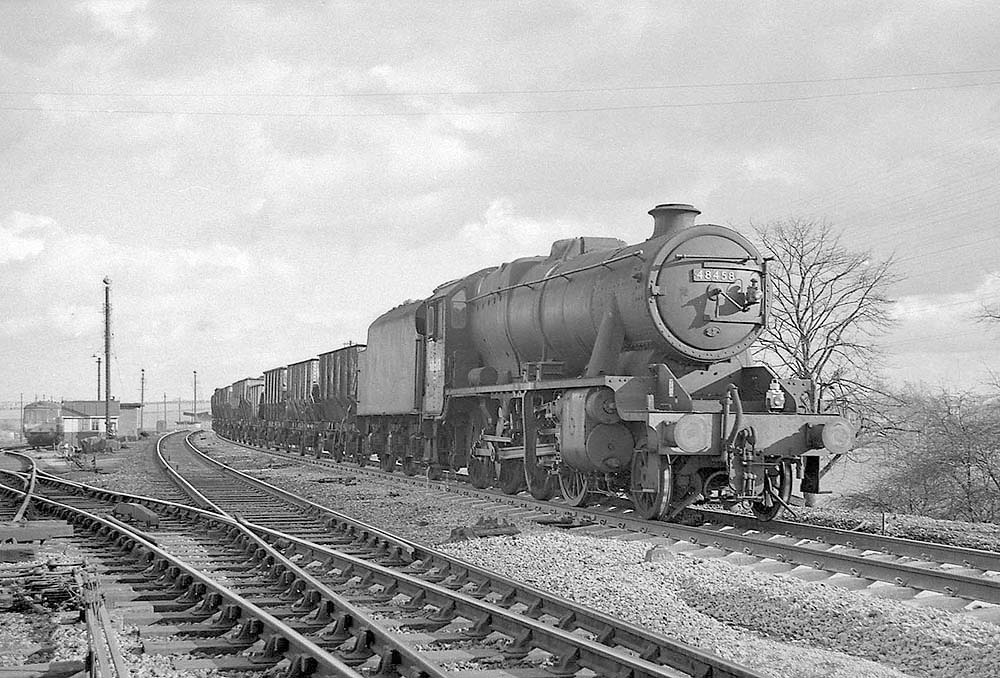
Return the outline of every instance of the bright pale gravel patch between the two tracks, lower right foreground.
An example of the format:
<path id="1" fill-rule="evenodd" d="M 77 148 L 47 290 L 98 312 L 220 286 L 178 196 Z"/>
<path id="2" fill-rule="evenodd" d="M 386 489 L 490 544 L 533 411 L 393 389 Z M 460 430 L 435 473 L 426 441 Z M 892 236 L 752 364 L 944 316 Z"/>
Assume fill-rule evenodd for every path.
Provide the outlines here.
<path id="1" fill-rule="evenodd" d="M 1000 676 L 994 625 L 828 584 L 560 533 L 442 548 L 776 676 Z"/>

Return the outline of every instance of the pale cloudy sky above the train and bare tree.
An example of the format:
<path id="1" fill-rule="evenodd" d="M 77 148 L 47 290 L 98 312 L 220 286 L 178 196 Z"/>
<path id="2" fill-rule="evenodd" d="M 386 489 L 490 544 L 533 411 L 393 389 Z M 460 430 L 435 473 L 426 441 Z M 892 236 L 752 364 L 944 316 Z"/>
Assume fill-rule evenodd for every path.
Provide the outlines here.
<path id="1" fill-rule="evenodd" d="M 208 393 L 694 204 L 896 258 L 886 378 L 1000 372 L 1000 5 L 0 3 L 0 404 Z"/>

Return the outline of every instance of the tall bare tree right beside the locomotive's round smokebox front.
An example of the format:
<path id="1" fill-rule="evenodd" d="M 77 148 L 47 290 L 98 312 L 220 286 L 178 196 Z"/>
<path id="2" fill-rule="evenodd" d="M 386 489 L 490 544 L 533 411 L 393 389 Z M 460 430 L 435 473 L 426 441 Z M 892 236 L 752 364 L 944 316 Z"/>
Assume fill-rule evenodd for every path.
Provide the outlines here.
<path id="1" fill-rule="evenodd" d="M 876 340 L 894 322 L 888 289 L 900 278 L 892 258 L 847 249 L 827 222 L 788 219 L 755 230 L 773 257 L 760 357 L 785 376 L 812 380 L 817 411 L 862 421 L 885 411 L 893 395 L 877 378 Z"/>

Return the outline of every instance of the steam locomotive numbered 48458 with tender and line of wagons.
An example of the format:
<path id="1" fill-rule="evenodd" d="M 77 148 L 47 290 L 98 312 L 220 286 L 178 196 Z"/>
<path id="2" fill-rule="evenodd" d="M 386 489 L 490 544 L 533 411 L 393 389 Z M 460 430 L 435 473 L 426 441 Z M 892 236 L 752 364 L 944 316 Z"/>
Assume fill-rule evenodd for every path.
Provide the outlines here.
<path id="1" fill-rule="evenodd" d="M 767 261 L 739 233 L 658 205 L 653 232 L 558 240 L 378 317 L 365 345 L 215 391 L 215 429 L 244 442 L 404 473 L 465 469 L 479 488 L 580 506 L 629 496 L 647 519 L 819 491 L 819 454 L 854 430 L 812 384 L 752 364 Z"/>

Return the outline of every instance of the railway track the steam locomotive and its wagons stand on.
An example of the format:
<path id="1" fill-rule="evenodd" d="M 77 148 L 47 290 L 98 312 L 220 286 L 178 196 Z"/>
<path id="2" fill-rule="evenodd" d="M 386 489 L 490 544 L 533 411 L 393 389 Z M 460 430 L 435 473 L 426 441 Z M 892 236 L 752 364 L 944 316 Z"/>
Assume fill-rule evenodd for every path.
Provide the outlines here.
<path id="1" fill-rule="evenodd" d="M 791 521 L 761 524 L 735 514 L 702 512 L 704 523 L 682 525 L 638 518 L 624 502 L 584 508 L 536 501 L 525 493 L 477 490 L 456 479 L 430 481 L 376 468 L 226 442 L 300 463 L 317 464 L 385 482 L 428 487 L 472 500 L 470 508 L 532 510 L 549 522 L 602 536 L 643 534 L 664 548 L 702 557 L 727 557 L 769 572 L 787 572 L 874 595 L 959 611 L 1000 623 L 1000 554 L 898 537 L 885 537 Z"/>

